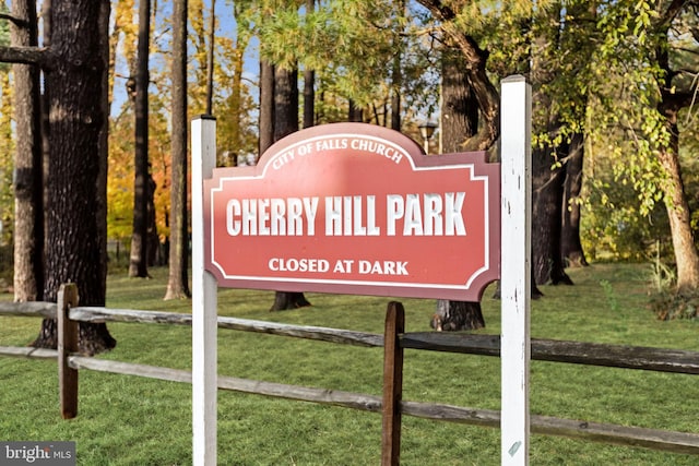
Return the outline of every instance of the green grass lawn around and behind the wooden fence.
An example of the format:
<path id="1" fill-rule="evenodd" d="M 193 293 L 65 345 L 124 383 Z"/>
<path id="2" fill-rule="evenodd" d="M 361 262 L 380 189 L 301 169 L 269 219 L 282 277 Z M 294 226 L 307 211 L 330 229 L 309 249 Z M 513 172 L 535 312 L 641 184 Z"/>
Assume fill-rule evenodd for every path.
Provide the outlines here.
<path id="1" fill-rule="evenodd" d="M 645 265 L 595 264 L 569 271 L 576 286 L 543 287 L 532 303 L 532 337 L 699 350 L 699 322 L 657 321 L 648 309 Z M 108 307 L 190 312 L 163 301 L 167 271 L 140 280 L 111 275 Z M 499 333 L 500 303 L 484 299 L 487 328 Z M 222 315 L 381 333 L 387 298 L 308 294 L 311 308 L 268 312 L 273 294 L 221 290 Z M 0 295 L 0 299 L 11 297 Z M 408 332 L 428 330 L 433 300 L 405 299 Z M 38 320 L 1 318 L 0 345 L 22 346 Z M 118 345 L 99 358 L 191 367 L 191 330 L 109 324 Z M 218 332 L 222 375 L 351 392 L 381 393 L 382 349 L 273 335 Z M 0 357 L 0 439 L 73 440 L 80 465 L 191 464 L 191 386 L 81 371 L 79 416 L 61 420 L 51 361 Z M 407 350 L 404 399 L 499 409 L 499 359 Z M 699 432 L 697 378 L 532 362 L 533 414 Z M 222 465 L 370 465 L 380 458 L 377 414 L 218 392 Z M 536 465 L 694 465 L 699 458 L 533 435 Z M 499 430 L 404 417 L 403 465 L 497 465 Z"/>

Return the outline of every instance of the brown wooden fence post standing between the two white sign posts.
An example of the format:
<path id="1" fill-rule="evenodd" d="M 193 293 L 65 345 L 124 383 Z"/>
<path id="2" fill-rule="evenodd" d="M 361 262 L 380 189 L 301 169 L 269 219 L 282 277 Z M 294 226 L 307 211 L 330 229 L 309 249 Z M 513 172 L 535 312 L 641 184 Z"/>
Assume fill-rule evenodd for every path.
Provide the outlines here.
<path id="1" fill-rule="evenodd" d="M 399 334 L 405 332 L 403 304 L 391 301 L 383 332 L 383 414 L 381 465 L 398 466 L 401 456 L 401 401 L 403 398 L 403 347 Z"/>

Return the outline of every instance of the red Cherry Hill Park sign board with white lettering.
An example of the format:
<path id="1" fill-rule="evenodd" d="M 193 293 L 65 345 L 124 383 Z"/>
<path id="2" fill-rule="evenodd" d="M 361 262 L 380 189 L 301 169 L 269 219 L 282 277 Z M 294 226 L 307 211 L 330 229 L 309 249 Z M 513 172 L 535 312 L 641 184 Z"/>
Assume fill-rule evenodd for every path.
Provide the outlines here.
<path id="1" fill-rule="evenodd" d="M 382 127 L 309 128 L 204 181 L 222 286 L 478 300 L 499 276 L 499 165 Z"/>

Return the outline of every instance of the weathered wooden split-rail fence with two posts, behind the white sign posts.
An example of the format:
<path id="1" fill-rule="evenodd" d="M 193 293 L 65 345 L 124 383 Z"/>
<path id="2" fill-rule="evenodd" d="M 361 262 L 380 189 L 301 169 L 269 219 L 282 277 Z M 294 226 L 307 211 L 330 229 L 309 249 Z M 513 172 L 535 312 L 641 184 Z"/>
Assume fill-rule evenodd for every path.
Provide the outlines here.
<path id="1" fill-rule="evenodd" d="M 191 314 L 75 307 L 76 298 L 76 289 L 71 285 L 61 287 L 58 304 L 49 302 L 0 303 L 0 315 L 58 318 L 58 350 L 0 346 L 0 355 L 32 359 L 57 359 L 61 416 L 63 418 L 74 417 L 78 413 L 78 371 L 80 369 L 191 383 L 191 372 L 189 371 L 122 361 L 107 361 L 75 354 L 78 322 L 140 322 L 191 325 Z M 383 397 L 379 397 L 360 393 L 310 389 L 230 377 L 218 377 L 218 389 L 382 413 L 382 441 L 384 446 L 382 464 L 398 464 L 402 415 L 498 428 L 500 426 L 500 413 L 497 410 L 403 401 L 402 373 L 403 349 L 412 348 L 497 357 L 500 353 L 499 336 L 443 332 L 404 333 L 403 321 L 404 312 L 400 302 L 389 303 L 384 335 L 220 316 L 217 321 L 218 328 L 224 330 L 257 332 L 364 347 L 384 347 L 384 393 Z M 552 339 L 532 339 L 531 345 L 531 355 L 534 360 L 699 374 L 699 351 Z M 699 454 L 699 433 L 626 427 L 536 415 L 531 416 L 530 422 L 533 433 L 641 446 L 673 453 Z"/>

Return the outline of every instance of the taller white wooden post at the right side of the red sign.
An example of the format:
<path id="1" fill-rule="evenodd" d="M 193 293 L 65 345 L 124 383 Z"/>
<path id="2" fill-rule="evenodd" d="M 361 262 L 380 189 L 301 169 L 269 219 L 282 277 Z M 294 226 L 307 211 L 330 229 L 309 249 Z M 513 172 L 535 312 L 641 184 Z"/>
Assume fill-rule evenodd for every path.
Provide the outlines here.
<path id="1" fill-rule="evenodd" d="M 524 76 L 502 80 L 500 106 L 500 294 L 502 465 L 529 464 L 531 298 L 531 108 Z"/>

